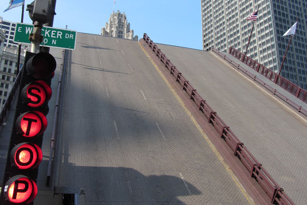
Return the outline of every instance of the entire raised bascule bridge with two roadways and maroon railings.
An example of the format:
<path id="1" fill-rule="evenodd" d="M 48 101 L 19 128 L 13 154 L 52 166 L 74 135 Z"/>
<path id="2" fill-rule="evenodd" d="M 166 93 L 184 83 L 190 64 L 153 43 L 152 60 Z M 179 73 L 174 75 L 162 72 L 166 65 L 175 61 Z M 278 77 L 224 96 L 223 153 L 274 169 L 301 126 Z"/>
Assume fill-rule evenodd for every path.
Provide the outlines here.
<path id="1" fill-rule="evenodd" d="M 306 91 L 233 48 L 76 39 L 50 50 L 34 204 L 305 204 Z M 0 115 L 1 177 L 19 79 Z"/>

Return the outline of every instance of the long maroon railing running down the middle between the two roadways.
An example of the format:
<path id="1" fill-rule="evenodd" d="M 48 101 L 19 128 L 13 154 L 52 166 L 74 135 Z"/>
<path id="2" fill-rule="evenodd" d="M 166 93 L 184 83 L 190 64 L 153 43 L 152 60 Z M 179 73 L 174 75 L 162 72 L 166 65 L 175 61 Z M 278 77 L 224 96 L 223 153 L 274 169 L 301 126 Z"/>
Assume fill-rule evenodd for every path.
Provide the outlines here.
<path id="1" fill-rule="evenodd" d="M 183 74 L 174 66 L 166 55 L 157 47 L 156 44 L 144 33 L 144 41 L 148 44 L 152 52 L 160 59 L 160 61 L 168 69 L 182 89 L 189 95 L 190 99 L 198 106 L 199 110 L 204 114 L 208 122 L 215 128 L 218 137 L 224 139 L 226 144 L 233 151 L 233 155 L 238 157 L 243 165 L 250 172 L 250 176 L 255 178 L 261 188 L 268 194 L 272 204 L 294 204 L 293 201 L 283 192 L 268 172 L 262 167 L 261 163 L 247 150 L 243 142 L 241 142 L 226 123 L 214 112 L 200 94 L 194 89 Z M 237 52 L 235 55 L 240 55 Z M 242 56 L 241 56 L 242 58 Z M 251 63 L 254 64 L 255 63 Z M 258 65 L 256 65 L 258 66 Z"/>

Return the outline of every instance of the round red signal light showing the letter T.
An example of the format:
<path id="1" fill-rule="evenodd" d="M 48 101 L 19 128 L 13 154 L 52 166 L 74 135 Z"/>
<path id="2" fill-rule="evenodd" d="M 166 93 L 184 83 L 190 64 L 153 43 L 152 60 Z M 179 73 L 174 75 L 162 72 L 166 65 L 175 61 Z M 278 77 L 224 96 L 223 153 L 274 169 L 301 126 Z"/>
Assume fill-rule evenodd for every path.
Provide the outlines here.
<path id="1" fill-rule="evenodd" d="M 15 126 L 18 134 L 25 137 L 34 137 L 45 132 L 47 118 L 39 111 L 30 111 L 19 115 Z"/>

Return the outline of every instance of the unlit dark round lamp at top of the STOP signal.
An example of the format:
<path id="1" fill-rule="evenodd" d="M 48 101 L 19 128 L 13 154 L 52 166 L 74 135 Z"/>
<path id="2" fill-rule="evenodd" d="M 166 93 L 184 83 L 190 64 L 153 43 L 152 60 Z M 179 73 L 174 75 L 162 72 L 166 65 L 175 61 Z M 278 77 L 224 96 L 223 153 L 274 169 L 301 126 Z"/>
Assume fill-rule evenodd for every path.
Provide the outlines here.
<path id="1" fill-rule="evenodd" d="M 36 79 L 52 77 L 56 68 L 56 61 L 50 53 L 41 52 L 31 57 L 26 65 L 28 74 Z"/>

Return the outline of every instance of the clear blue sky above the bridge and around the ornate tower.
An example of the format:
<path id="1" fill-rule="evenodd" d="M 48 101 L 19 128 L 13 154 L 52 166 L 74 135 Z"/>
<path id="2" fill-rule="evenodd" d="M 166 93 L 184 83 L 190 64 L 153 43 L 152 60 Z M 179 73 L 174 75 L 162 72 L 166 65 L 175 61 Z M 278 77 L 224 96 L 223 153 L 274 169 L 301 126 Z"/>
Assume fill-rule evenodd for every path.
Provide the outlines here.
<path id="1" fill-rule="evenodd" d="M 134 34 L 144 33 L 155 43 L 202 49 L 201 0 L 115 0 L 115 12 L 125 12 Z M 1 0 L 0 16 L 20 22 L 21 7 L 3 12 L 9 0 Z M 32 0 L 25 0 L 25 5 Z M 25 6 L 26 7 L 26 6 Z M 83 33 L 100 34 L 113 12 L 113 0 L 57 0 L 53 26 Z M 25 9 L 24 23 L 32 24 Z"/>

